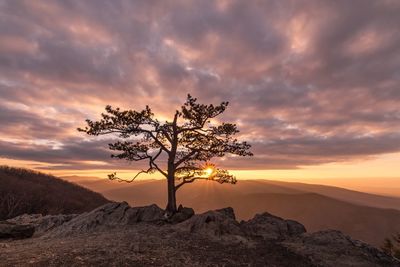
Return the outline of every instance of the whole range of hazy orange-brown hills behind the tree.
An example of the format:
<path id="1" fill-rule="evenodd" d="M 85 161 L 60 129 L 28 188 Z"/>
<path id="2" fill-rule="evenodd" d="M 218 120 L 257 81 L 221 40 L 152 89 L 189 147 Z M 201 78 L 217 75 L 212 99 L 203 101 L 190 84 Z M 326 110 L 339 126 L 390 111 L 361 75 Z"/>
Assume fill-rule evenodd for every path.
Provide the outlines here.
<path id="1" fill-rule="evenodd" d="M 160 180 L 114 183 L 81 180 L 109 199 L 141 206 L 165 207 L 166 185 Z M 110 188 L 109 190 L 106 190 Z M 400 232 L 400 199 L 338 187 L 267 180 L 242 180 L 236 185 L 198 181 L 178 191 L 178 203 L 196 212 L 231 206 L 238 219 L 247 220 L 264 211 L 302 222 L 313 232 L 341 230 L 365 242 L 381 245 L 385 237 Z"/>

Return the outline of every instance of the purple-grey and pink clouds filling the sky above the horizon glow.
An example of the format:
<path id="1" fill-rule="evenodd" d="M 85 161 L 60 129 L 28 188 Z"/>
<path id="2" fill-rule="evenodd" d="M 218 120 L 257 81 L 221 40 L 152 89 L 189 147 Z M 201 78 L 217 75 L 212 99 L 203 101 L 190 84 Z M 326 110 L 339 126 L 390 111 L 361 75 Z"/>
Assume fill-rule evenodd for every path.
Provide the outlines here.
<path id="1" fill-rule="evenodd" d="M 398 162 L 399 14 L 396 0 L 0 0 L 1 163 L 135 168 L 76 128 L 106 104 L 168 118 L 187 93 L 230 101 L 255 154 L 231 169 Z"/>

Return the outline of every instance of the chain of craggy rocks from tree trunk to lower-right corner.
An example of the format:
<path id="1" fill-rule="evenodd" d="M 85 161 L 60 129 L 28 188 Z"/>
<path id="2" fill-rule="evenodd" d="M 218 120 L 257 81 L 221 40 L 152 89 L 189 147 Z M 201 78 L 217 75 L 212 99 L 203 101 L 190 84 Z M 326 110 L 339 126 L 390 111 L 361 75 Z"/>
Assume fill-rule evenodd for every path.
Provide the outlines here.
<path id="1" fill-rule="evenodd" d="M 239 224 L 233 209 L 225 208 L 194 215 L 176 227 L 213 240 L 228 240 L 231 244 L 240 241 L 247 246 L 259 246 L 257 240 L 262 238 L 265 244 L 275 244 L 299 259 L 306 259 L 310 266 L 400 266 L 394 258 L 339 231 L 308 234 L 301 223 L 269 213 L 257 214 Z"/>

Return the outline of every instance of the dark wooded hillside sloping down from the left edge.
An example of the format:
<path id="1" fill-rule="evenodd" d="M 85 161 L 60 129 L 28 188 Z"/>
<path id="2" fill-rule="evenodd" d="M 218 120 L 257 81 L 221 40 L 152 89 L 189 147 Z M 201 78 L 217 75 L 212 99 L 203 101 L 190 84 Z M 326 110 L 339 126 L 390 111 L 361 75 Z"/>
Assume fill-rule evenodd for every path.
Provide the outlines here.
<path id="1" fill-rule="evenodd" d="M 100 193 L 54 176 L 0 166 L 0 220 L 24 213 L 82 213 L 108 202 Z"/>

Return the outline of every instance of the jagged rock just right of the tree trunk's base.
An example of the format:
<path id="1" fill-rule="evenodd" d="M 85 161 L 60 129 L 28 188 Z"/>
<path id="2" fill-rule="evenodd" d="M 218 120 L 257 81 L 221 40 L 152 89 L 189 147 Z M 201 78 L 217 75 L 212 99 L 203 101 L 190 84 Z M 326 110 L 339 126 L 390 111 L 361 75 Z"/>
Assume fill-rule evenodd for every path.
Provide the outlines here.
<path id="1" fill-rule="evenodd" d="M 194 215 L 177 226 L 190 233 L 199 233 L 217 239 L 223 236 L 241 236 L 243 232 L 234 218 L 233 209 L 226 208 Z"/>

